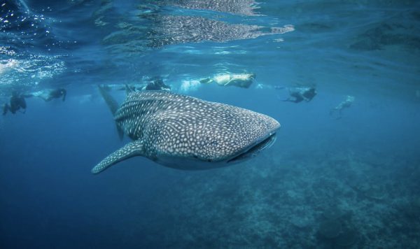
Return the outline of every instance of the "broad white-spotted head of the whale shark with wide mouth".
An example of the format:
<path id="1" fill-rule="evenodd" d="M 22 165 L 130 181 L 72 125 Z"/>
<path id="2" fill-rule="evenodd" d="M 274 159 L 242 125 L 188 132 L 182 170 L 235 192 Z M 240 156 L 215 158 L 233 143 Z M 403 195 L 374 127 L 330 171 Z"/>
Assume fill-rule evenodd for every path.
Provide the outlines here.
<path id="1" fill-rule="evenodd" d="M 279 127 L 261 113 L 190 98 L 182 112 L 158 115 L 148 132 L 153 143 L 146 148 L 165 166 L 209 169 L 258 155 L 274 143 Z"/>

